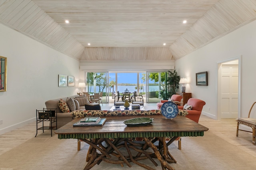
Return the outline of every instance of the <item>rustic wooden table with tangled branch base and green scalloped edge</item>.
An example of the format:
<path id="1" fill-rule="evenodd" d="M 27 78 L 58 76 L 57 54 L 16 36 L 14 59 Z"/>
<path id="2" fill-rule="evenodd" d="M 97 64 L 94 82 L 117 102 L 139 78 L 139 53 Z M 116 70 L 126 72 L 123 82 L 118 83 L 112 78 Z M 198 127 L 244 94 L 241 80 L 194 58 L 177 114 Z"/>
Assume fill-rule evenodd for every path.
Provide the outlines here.
<path id="1" fill-rule="evenodd" d="M 154 121 L 149 125 L 139 127 L 127 126 L 123 123 L 127 119 L 138 117 L 150 117 L 154 118 Z M 134 162 L 148 170 L 153 170 L 150 166 L 138 162 L 138 160 L 150 159 L 157 166 L 152 158 L 158 158 L 162 169 L 173 170 L 169 163 L 176 163 L 176 160 L 170 154 L 168 145 L 178 137 L 203 136 L 204 131 L 208 130 L 207 127 L 180 115 L 172 120 L 162 115 L 108 116 L 106 118 L 103 126 L 73 127 L 73 124 L 79 121 L 79 119 L 74 119 L 55 131 L 59 139 L 80 139 L 90 145 L 86 157 L 88 163 L 84 170 L 89 170 L 102 160 L 121 166 L 127 164 L 129 167 L 131 167 L 130 162 Z M 144 143 L 131 140 L 138 137 L 143 139 Z M 166 137 L 171 138 L 167 143 Z M 156 141 L 158 141 L 157 146 L 154 144 Z M 120 148 L 125 148 L 128 155 L 124 155 Z M 148 152 L 148 148 L 154 152 Z M 131 149 L 138 153 L 132 156 Z"/>

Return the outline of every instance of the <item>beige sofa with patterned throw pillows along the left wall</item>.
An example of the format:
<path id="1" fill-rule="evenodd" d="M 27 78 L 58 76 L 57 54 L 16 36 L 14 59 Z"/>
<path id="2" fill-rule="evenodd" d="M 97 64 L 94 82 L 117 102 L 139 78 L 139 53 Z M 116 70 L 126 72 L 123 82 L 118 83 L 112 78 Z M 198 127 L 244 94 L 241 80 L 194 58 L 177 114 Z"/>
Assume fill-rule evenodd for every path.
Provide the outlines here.
<path id="1" fill-rule="evenodd" d="M 76 97 L 78 97 L 78 96 L 79 95 L 74 95 L 74 96 L 70 96 L 69 98 L 76 99 Z M 48 100 L 45 102 L 45 106 L 47 109 L 56 109 L 57 108 L 57 128 L 60 128 L 64 125 L 66 125 L 73 119 L 73 116 L 70 114 L 70 112 L 63 113 L 61 111 L 60 107 L 58 106 L 60 99 L 63 99 L 66 102 L 67 98 L 68 97 L 58 98 L 58 99 Z M 89 107 L 89 109 L 92 109 L 92 110 L 96 110 L 96 109 L 100 110 L 101 109 L 101 107 L 98 103 L 88 104 L 88 105 L 86 105 L 86 108 L 87 107 Z M 82 105 L 82 106 L 79 106 L 79 109 L 76 108 L 76 110 L 85 110 L 86 108 L 85 108 L 85 105 Z M 53 125 L 53 126 L 55 126 L 55 125 Z"/>

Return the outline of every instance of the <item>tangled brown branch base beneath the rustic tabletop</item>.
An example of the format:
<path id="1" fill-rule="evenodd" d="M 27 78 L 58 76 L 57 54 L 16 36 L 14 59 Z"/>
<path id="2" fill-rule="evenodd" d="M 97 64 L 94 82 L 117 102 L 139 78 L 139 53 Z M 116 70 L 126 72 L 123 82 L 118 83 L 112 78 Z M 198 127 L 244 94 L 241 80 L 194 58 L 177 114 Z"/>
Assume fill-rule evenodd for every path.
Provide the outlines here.
<path id="1" fill-rule="evenodd" d="M 166 143 L 165 137 L 156 137 L 156 139 L 152 141 L 150 141 L 152 139 L 151 137 L 143 137 L 143 139 L 145 143 L 134 142 L 128 138 L 117 138 L 113 142 L 108 138 L 90 140 L 80 139 L 81 141 L 84 141 L 90 145 L 86 156 L 86 162 L 88 163 L 84 167 L 84 170 L 91 169 L 96 164 L 100 164 L 102 160 L 107 163 L 120 164 L 122 167 L 125 163 L 130 168 L 132 165 L 129 162 L 133 162 L 134 164 L 138 164 L 139 166 L 142 166 L 148 170 L 154 170 L 154 168 L 138 162 L 138 160 L 149 159 L 155 166 L 158 166 L 153 158 L 157 158 L 160 161 L 163 170 L 166 170 L 166 168 L 168 170 L 174 170 L 172 166 L 168 164 L 174 162 L 176 163 L 176 160 L 172 157 L 168 150 L 168 146 L 176 139 L 176 137 L 171 139 L 168 143 Z M 158 146 L 154 145 L 157 140 L 159 141 Z M 125 148 L 127 152 L 121 152 L 120 149 L 122 148 Z M 152 150 L 147 151 L 148 148 L 151 148 L 154 152 L 152 152 Z M 132 155 L 131 149 L 137 152 L 134 154 L 136 156 Z M 126 153 L 128 153 L 128 155 Z M 118 160 L 112 159 L 110 154 L 118 158 Z M 145 156 L 142 156 L 141 154 L 144 154 Z"/>

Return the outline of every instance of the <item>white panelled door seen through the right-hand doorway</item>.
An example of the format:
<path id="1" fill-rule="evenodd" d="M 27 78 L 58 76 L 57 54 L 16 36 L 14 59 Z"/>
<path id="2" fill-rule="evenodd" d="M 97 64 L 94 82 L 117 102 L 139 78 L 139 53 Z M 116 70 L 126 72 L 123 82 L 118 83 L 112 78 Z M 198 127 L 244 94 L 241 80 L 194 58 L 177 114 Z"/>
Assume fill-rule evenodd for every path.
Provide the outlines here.
<path id="1" fill-rule="evenodd" d="M 238 117 L 238 64 L 221 67 L 221 118 Z"/>

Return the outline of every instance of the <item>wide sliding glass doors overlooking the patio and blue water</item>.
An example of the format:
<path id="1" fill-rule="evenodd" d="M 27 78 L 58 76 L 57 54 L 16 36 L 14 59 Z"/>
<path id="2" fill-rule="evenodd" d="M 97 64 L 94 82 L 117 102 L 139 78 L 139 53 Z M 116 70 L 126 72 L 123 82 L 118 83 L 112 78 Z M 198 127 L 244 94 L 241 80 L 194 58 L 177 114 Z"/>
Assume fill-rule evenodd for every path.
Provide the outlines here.
<path id="1" fill-rule="evenodd" d="M 103 92 L 103 103 L 114 103 L 119 92 L 140 94 L 144 102 L 160 102 L 159 92 L 166 88 L 166 72 L 88 72 L 87 92 L 91 95 Z"/>

